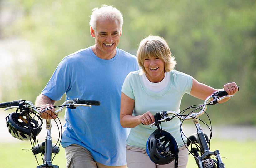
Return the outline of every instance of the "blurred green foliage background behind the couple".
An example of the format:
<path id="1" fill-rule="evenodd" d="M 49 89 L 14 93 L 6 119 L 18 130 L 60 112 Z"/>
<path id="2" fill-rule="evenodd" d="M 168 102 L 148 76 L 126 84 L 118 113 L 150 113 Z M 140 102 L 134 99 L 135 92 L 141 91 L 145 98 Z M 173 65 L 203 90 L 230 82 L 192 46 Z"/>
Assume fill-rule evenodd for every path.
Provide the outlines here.
<path id="1" fill-rule="evenodd" d="M 178 71 L 218 89 L 240 86 L 208 107 L 214 124 L 256 125 L 255 0 L 0 0 L 0 101 L 33 102 L 62 58 L 93 45 L 89 20 L 101 4 L 123 14 L 119 48 L 135 55 L 145 36 L 159 35 Z M 185 95 L 181 110 L 202 103 Z"/>

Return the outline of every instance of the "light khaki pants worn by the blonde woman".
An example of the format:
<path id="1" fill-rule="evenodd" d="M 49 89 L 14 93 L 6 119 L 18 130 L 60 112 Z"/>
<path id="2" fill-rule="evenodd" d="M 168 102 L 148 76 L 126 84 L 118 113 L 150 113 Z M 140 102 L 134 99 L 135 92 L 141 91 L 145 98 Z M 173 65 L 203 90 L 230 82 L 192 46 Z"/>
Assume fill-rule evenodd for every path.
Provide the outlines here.
<path id="1" fill-rule="evenodd" d="M 185 145 L 179 147 L 178 168 L 185 168 L 189 152 Z M 156 165 L 150 160 L 145 149 L 126 145 L 126 162 L 128 168 L 174 168 L 174 161 L 166 165 Z"/>

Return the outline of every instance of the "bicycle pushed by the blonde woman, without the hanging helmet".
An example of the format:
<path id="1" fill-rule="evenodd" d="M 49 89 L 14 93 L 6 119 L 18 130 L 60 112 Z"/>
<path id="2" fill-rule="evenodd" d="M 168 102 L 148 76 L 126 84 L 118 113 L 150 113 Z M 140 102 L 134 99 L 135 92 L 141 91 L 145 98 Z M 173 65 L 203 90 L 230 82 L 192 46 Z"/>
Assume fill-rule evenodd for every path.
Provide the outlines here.
<path id="1" fill-rule="evenodd" d="M 238 88 L 238 90 L 239 90 L 239 88 Z M 155 126 L 158 126 L 158 128 L 159 128 L 159 123 L 165 122 L 165 121 L 171 121 L 174 117 L 178 117 L 180 119 L 180 121 L 181 121 L 180 127 L 181 127 L 184 120 L 192 119 L 196 126 L 197 133 L 194 133 L 194 134 L 190 135 L 189 137 L 186 137 L 187 141 L 184 141 L 183 138 L 182 139 L 183 139 L 184 144 L 187 142 L 187 149 L 189 151 L 189 154 L 194 156 L 198 168 L 216 168 L 216 167 L 217 168 L 225 168 L 224 163 L 221 160 L 219 150 L 215 150 L 214 152 L 210 151 L 209 144 L 210 144 L 210 140 L 212 137 L 211 127 L 209 127 L 202 120 L 198 119 L 198 117 L 205 113 L 207 105 L 215 105 L 220 100 L 223 100 L 225 98 L 230 98 L 230 97 L 234 97 L 234 96 L 228 95 L 228 93 L 225 90 L 219 91 L 219 92 L 216 91 L 212 95 L 208 96 L 205 99 L 203 105 L 190 106 L 187 109 L 181 111 L 180 113 L 177 113 L 175 111 L 161 111 L 160 113 L 157 113 L 155 115 L 155 122 L 150 124 L 150 127 L 155 125 Z M 199 106 L 199 107 L 197 107 L 197 106 Z M 184 112 L 191 108 L 194 108 L 194 110 L 192 110 L 189 114 L 184 115 Z M 201 111 L 198 113 L 194 113 L 194 111 L 198 110 L 198 109 Z M 172 116 L 168 117 L 168 115 L 172 115 Z M 209 116 L 208 116 L 208 118 L 209 118 Z M 202 121 L 210 129 L 210 138 L 208 138 L 207 134 L 205 134 L 203 132 L 202 128 L 200 127 L 199 121 Z M 182 129 L 180 129 L 180 132 L 182 134 L 184 134 L 182 132 Z M 188 148 L 190 146 L 190 144 L 191 144 L 191 149 Z M 193 145 L 195 147 L 193 147 Z M 200 154 L 199 154 L 199 152 L 200 152 Z M 148 153 L 148 155 L 149 155 L 149 153 Z M 212 156 L 215 157 L 215 159 L 212 158 Z"/>

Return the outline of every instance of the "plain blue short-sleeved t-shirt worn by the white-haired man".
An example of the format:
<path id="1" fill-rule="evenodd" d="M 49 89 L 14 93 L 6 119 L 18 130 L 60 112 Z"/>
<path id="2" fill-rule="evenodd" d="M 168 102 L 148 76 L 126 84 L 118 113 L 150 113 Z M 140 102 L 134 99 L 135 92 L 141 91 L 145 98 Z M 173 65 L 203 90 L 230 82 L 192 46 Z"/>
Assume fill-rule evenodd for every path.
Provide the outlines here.
<path id="1" fill-rule="evenodd" d="M 66 56 L 42 94 L 52 100 L 99 100 L 100 106 L 66 109 L 63 147 L 77 144 L 103 165 L 126 165 L 125 140 L 129 129 L 120 125 L 121 88 L 125 77 L 139 69 L 137 59 L 116 48 L 112 59 L 98 58 L 91 47 Z"/>

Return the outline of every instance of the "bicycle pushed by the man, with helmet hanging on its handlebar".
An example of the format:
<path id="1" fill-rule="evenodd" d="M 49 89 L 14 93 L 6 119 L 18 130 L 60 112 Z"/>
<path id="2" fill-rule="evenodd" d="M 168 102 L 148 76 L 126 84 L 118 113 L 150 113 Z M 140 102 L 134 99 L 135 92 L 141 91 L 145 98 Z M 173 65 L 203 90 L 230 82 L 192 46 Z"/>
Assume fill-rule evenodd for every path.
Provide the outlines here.
<path id="1" fill-rule="evenodd" d="M 38 142 L 37 135 L 40 133 L 42 129 L 41 126 L 43 124 L 43 120 L 42 118 L 40 118 L 40 115 L 42 114 L 42 112 L 46 112 L 47 110 L 51 110 L 52 108 L 59 107 L 59 109 L 55 111 L 55 114 L 59 114 L 64 108 L 75 109 L 78 106 L 87 106 L 91 108 L 92 105 L 98 106 L 100 105 L 100 101 L 83 100 L 83 99 L 75 98 L 73 100 L 66 100 L 60 106 L 52 106 L 41 111 L 40 108 L 35 107 L 32 102 L 20 99 L 12 102 L 0 103 L 0 108 L 6 108 L 4 110 L 9 110 L 13 108 L 17 109 L 16 112 L 13 112 L 6 117 L 8 131 L 12 134 L 14 138 L 17 138 L 20 140 L 30 140 L 31 146 L 32 146 L 32 153 L 35 155 L 36 161 L 37 161 L 37 157 L 36 157 L 37 154 L 41 153 L 41 156 L 43 155 L 42 156 L 43 164 L 39 165 L 37 161 L 37 164 L 38 164 L 37 168 L 59 168 L 59 166 L 52 164 L 52 160 L 54 159 L 55 155 L 58 154 L 60 151 L 57 143 L 58 142 L 60 143 L 61 138 L 58 139 L 56 144 L 52 143 L 52 137 L 51 137 L 52 123 L 51 123 L 51 119 L 47 119 L 46 120 L 47 136 L 45 138 L 45 141 L 40 143 Z M 20 110 L 20 112 L 18 112 L 18 110 Z M 30 114 L 34 114 L 34 116 L 32 117 Z M 35 117 L 37 117 L 38 119 L 35 120 Z M 40 124 L 38 123 L 39 120 L 41 121 Z M 60 137 L 60 134 L 59 134 L 59 137 Z M 36 144 L 36 139 L 37 139 L 37 144 Z M 32 140 L 33 140 L 33 143 L 32 143 Z M 52 158 L 52 153 L 55 154 L 53 158 Z"/>

